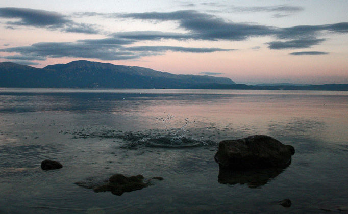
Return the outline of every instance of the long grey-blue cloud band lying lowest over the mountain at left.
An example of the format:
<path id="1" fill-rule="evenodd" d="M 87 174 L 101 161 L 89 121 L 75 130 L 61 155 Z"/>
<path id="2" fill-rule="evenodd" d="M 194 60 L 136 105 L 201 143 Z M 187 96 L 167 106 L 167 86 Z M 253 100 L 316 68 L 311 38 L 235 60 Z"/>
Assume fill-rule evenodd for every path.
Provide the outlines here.
<path id="1" fill-rule="evenodd" d="M 87 39 L 77 42 L 39 42 L 30 46 L 0 49 L 0 52 L 15 52 L 20 55 L 7 56 L 6 59 L 40 60 L 41 58 L 89 58 L 100 60 L 138 59 L 144 56 L 155 56 L 166 51 L 210 53 L 230 51 L 221 48 L 190 48 L 177 46 L 133 46 L 134 41 L 118 38 Z"/>

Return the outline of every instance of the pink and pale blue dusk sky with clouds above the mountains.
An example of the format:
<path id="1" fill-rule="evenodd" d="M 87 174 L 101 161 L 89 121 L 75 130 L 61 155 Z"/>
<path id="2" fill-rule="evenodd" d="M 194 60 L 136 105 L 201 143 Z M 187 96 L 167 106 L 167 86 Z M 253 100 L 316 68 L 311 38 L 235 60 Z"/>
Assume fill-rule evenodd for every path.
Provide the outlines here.
<path id="1" fill-rule="evenodd" d="M 0 62 L 348 84 L 346 8 L 346 0 L 0 0 Z"/>

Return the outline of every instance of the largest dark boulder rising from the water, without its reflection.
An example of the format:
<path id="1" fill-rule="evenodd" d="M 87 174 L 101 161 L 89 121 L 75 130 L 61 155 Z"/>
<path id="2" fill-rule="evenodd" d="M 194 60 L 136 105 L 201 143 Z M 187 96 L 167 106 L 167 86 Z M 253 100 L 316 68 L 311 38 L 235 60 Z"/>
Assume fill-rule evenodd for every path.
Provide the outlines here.
<path id="1" fill-rule="evenodd" d="M 264 135 L 255 135 L 219 143 L 215 161 L 220 169 L 253 170 L 287 167 L 295 149 Z"/>

